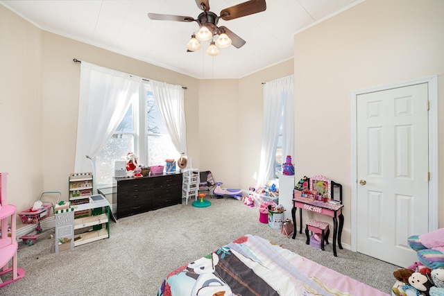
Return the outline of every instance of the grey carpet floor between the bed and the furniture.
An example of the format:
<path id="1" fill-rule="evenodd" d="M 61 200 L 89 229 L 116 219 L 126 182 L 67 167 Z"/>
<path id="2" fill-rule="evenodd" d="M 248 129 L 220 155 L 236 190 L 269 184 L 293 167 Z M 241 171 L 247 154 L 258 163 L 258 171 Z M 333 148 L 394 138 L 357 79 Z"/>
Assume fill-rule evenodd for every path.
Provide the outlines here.
<path id="1" fill-rule="evenodd" d="M 207 208 L 191 203 L 150 211 L 110 223 L 110 238 L 55 253 L 54 239 L 33 246 L 19 243 L 23 279 L 0 288 L 0 295 L 152 295 L 176 268 L 210 254 L 244 234 L 255 234 L 317 263 L 391 293 L 396 265 L 370 256 L 325 251 L 305 244 L 305 234 L 287 238 L 259 223 L 258 208 L 233 198 L 208 199 Z M 331 236 L 330 236 L 331 239 Z M 4 276 L 3 276 L 4 277 Z M 5 280 L 5 279 L 3 279 Z M 265 296 L 265 295 L 264 295 Z"/>

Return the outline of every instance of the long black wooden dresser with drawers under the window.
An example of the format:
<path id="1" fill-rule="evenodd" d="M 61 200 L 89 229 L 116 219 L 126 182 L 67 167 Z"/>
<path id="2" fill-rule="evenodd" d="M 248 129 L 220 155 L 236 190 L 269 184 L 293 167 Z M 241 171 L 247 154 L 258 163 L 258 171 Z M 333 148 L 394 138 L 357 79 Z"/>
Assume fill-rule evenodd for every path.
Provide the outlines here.
<path id="1" fill-rule="evenodd" d="M 116 177 L 117 218 L 182 203 L 182 173 Z"/>

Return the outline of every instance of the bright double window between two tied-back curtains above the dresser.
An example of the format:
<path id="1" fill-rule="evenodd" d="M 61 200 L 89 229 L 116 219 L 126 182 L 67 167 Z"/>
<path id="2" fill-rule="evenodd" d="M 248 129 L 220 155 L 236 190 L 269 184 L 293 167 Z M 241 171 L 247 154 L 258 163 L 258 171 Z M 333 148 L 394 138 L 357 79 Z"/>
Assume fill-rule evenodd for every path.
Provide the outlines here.
<path id="1" fill-rule="evenodd" d="M 150 85 L 145 85 L 144 95 L 130 105 L 111 139 L 94 158 L 98 188 L 112 186 L 114 162 L 125 160 L 129 152 L 135 153 L 139 164 L 144 166 L 164 165 L 165 159 L 180 157 L 162 121 Z"/>

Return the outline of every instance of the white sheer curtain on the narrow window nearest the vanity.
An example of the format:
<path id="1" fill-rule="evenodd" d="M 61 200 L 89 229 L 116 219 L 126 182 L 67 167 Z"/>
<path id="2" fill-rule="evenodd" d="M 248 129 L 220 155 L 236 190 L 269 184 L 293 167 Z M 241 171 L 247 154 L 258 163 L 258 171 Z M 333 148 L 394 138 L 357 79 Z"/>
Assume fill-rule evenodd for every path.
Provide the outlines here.
<path id="1" fill-rule="evenodd" d="M 282 108 L 284 108 L 282 110 Z M 274 160 L 282 118 L 282 157 L 293 155 L 294 142 L 294 98 L 293 76 L 287 76 L 264 84 L 264 123 L 262 127 L 262 148 L 257 173 L 257 186 L 273 179 Z"/>

